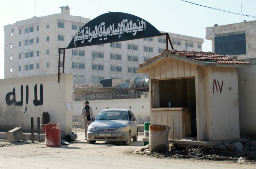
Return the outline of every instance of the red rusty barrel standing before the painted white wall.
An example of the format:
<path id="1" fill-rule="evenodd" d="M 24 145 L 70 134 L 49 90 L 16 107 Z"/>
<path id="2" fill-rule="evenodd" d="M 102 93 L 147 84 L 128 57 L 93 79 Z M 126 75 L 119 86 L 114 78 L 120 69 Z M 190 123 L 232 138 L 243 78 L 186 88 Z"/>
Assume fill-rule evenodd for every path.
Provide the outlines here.
<path id="1" fill-rule="evenodd" d="M 46 124 L 46 147 L 60 147 L 60 123 Z"/>

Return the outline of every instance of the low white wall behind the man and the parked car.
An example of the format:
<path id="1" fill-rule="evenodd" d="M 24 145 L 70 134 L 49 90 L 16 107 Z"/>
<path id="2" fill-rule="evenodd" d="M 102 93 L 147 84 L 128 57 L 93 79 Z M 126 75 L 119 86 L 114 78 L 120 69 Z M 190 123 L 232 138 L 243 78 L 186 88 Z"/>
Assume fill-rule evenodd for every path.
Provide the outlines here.
<path id="1" fill-rule="evenodd" d="M 73 102 L 73 121 L 81 122 L 81 109 L 85 101 Z M 149 98 L 130 98 L 116 100 L 94 100 L 89 101 L 94 117 L 103 109 L 125 108 L 133 112 L 138 123 L 149 122 Z"/>

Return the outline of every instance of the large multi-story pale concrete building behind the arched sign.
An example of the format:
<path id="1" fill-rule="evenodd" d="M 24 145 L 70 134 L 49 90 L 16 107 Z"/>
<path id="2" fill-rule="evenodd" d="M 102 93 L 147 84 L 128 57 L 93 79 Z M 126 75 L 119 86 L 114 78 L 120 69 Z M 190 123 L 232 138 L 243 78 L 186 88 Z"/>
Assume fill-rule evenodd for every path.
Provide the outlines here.
<path id="1" fill-rule="evenodd" d="M 5 78 L 58 73 L 58 48 L 67 47 L 78 30 L 90 21 L 69 15 L 68 6 L 60 8 L 61 13 L 4 27 Z M 202 50 L 202 38 L 169 35 L 176 50 Z M 65 52 L 65 73 L 74 74 L 74 85 L 148 76 L 136 73 L 138 64 L 158 55 L 165 47 L 165 37 L 153 37 L 69 49 Z"/>

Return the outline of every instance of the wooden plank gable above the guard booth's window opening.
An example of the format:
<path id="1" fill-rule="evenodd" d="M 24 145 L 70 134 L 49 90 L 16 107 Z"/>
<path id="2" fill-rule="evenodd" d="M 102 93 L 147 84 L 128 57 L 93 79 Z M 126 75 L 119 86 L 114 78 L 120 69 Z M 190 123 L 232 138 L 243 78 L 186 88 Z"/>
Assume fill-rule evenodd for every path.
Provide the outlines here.
<path id="1" fill-rule="evenodd" d="M 170 79 L 196 76 L 196 65 L 169 58 L 149 69 L 149 79 Z"/>

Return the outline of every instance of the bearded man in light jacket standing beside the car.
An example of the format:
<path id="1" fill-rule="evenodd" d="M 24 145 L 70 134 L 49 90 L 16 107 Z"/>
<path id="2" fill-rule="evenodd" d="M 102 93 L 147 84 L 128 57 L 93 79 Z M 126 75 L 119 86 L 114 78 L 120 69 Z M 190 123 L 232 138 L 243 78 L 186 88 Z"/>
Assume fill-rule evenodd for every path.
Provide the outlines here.
<path id="1" fill-rule="evenodd" d="M 85 106 L 82 107 L 81 115 L 82 115 L 82 122 L 84 123 L 85 139 L 86 139 L 88 126 L 92 122 L 91 118 L 93 118 L 92 108 L 91 106 L 89 106 L 89 101 L 86 101 Z"/>

